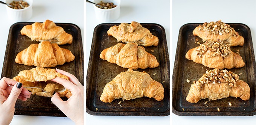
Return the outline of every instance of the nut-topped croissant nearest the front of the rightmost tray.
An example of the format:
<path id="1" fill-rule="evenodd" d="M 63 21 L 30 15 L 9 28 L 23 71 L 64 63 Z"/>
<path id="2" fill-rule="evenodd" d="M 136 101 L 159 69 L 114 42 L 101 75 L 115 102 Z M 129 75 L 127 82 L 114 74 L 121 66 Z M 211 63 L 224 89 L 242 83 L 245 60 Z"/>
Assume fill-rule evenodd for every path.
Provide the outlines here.
<path id="1" fill-rule="evenodd" d="M 227 97 L 250 99 L 250 87 L 239 80 L 239 76 L 227 70 L 213 69 L 198 80 L 189 89 L 186 100 L 197 103 L 200 99 L 216 100 Z"/>

